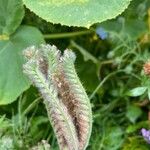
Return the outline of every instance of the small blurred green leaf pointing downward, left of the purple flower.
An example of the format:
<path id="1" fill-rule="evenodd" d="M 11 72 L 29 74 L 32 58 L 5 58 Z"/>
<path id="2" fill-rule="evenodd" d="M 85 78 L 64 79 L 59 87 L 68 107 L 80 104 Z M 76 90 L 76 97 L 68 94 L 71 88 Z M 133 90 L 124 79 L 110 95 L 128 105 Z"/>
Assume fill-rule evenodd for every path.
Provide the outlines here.
<path id="1" fill-rule="evenodd" d="M 130 105 L 127 109 L 126 116 L 132 123 L 135 123 L 141 114 L 142 110 L 138 106 Z"/>

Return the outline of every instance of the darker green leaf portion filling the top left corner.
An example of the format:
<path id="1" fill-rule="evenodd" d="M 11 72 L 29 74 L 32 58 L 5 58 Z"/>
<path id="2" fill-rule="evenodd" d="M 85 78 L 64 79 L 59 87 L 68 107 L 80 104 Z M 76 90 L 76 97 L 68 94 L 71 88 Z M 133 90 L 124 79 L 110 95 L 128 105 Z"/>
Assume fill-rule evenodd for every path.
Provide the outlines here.
<path id="1" fill-rule="evenodd" d="M 22 0 L 0 0 L 0 37 L 14 33 L 23 16 Z"/>

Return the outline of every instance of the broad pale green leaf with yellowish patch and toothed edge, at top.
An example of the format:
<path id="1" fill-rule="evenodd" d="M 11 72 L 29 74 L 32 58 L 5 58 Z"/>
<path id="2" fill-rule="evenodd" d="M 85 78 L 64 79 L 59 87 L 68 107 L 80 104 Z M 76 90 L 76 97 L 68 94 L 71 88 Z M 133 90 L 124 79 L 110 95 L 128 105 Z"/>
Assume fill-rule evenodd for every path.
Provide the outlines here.
<path id="1" fill-rule="evenodd" d="M 68 26 L 90 27 L 115 18 L 131 0 L 23 0 L 39 17 Z"/>

